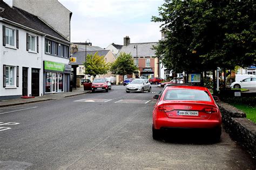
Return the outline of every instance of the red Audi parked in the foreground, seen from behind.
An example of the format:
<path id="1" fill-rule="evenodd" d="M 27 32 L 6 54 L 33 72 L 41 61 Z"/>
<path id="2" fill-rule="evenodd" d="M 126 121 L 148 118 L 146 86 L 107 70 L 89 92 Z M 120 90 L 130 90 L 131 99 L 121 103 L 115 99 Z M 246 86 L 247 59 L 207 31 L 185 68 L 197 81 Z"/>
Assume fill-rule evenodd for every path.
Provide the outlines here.
<path id="1" fill-rule="evenodd" d="M 160 139 L 163 130 L 208 129 L 214 141 L 221 136 L 221 114 L 210 91 L 197 86 L 166 86 L 153 110 L 153 139 Z"/>

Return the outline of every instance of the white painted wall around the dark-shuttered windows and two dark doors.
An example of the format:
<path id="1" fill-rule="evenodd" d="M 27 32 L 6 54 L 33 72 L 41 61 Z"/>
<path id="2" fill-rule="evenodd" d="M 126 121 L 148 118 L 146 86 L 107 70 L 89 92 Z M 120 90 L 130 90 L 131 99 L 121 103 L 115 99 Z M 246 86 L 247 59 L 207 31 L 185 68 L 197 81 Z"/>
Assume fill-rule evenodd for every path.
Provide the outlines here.
<path id="1" fill-rule="evenodd" d="M 39 34 L 29 32 L 23 29 L 19 29 L 15 26 L 11 26 L 5 23 L 0 22 L 0 27 L 2 25 L 9 27 L 11 29 L 19 30 L 19 48 L 12 49 L 6 46 L 3 46 L 3 30 L 0 29 L 0 97 L 1 96 L 12 96 L 12 95 L 22 95 L 22 67 L 28 67 L 28 95 L 31 95 L 31 68 L 39 68 L 40 79 L 39 84 L 42 84 L 42 37 Z M 39 53 L 31 53 L 26 51 L 26 33 L 32 34 L 33 36 L 39 37 Z M 15 35 L 16 36 L 16 35 Z M 16 37 L 15 37 L 15 46 L 16 46 Z M 3 65 L 9 66 L 19 66 L 19 87 L 14 88 L 3 88 Z M 16 72 L 16 70 L 15 70 Z M 16 74 L 15 74 L 16 75 Z M 15 76 L 15 85 L 16 85 L 16 76 Z M 42 94 L 42 86 L 39 88 L 39 94 Z"/>

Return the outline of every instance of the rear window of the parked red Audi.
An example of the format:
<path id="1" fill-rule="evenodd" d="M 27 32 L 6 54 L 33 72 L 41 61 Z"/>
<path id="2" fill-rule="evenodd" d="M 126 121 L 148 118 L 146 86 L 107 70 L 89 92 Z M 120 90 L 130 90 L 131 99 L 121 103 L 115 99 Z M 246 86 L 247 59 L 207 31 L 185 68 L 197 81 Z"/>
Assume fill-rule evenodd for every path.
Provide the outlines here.
<path id="1" fill-rule="evenodd" d="M 171 89 L 164 96 L 164 100 L 181 100 L 181 101 L 207 101 L 211 98 L 207 91 L 195 89 Z"/>

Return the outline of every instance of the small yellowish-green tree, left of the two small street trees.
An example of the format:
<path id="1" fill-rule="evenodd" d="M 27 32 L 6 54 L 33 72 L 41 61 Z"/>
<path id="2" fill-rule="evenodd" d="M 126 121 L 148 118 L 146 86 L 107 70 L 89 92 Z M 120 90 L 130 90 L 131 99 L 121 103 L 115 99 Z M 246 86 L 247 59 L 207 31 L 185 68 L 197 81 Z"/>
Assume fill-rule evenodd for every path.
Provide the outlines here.
<path id="1" fill-rule="evenodd" d="M 106 74 L 109 71 L 109 63 L 106 63 L 104 56 L 99 56 L 98 52 L 94 55 L 88 54 L 86 57 L 86 62 L 84 62 L 85 74 L 93 76 Z"/>

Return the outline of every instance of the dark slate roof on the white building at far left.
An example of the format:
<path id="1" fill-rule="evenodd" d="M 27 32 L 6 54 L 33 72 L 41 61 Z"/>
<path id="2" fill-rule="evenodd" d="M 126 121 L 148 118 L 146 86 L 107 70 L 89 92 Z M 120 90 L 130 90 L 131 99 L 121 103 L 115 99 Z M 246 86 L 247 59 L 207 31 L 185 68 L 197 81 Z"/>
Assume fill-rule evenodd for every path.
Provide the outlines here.
<path id="1" fill-rule="evenodd" d="M 29 27 L 33 30 L 48 34 L 50 36 L 62 39 L 64 41 L 69 41 L 68 39 L 61 36 L 57 31 L 53 30 L 50 26 L 45 24 L 37 16 L 32 15 L 24 10 L 12 6 L 12 8 L 0 0 L 0 7 L 4 8 L 3 12 L 0 12 L 0 17 L 11 20 L 12 22 L 21 24 L 23 26 Z"/>

